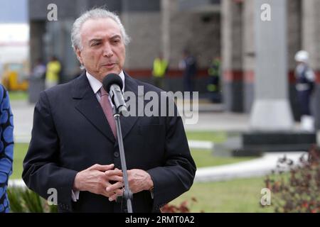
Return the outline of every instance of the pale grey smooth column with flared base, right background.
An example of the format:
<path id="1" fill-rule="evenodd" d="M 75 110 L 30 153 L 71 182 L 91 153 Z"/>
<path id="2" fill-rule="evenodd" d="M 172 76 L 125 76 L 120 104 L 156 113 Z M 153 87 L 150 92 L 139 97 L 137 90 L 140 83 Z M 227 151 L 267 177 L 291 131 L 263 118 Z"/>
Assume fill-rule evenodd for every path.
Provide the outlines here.
<path id="1" fill-rule="evenodd" d="M 262 4 L 271 21 L 262 21 Z M 258 131 L 289 131 L 293 126 L 287 80 L 287 1 L 255 0 L 255 101 L 250 126 Z"/>

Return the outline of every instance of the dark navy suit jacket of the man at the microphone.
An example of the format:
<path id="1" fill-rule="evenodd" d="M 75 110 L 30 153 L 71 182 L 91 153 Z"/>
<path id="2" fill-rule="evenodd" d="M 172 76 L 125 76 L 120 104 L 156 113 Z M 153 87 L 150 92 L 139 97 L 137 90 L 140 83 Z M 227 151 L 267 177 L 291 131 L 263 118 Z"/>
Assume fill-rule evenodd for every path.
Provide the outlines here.
<path id="1" fill-rule="evenodd" d="M 125 74 L 125 91 L 134 92 L 137 100 L 143 99 L 139 85 L 144 92 L 161 92 Z M 133 211 L 159 211 L 191 187 L 196 172 L 181 117 L 121 117 L 121 126 L 127 169 L 146 170 L 154 182 L 154 199 L 149 191 L 134 194 Z M 96 163 L 114 163 L 121 169 L 118 143 L 83 72 L 67 84 L 41 92 L 22 177 L 44 198 L 50 196 L 48 189 L 57 189 L 59 211 L 123 211 L 121 203 L 90 192 L 80 192 L 79 200 L 72 201 L 75 175 Z"/>

